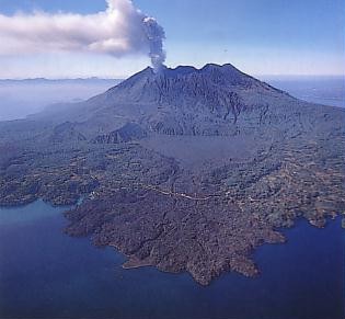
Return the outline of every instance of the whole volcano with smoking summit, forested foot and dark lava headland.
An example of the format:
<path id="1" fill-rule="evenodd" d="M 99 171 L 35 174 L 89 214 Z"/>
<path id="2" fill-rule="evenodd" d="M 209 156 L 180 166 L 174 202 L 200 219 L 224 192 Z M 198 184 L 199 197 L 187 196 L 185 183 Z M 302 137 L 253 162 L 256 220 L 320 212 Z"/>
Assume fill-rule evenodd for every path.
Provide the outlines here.
<path id="1" fill-rule="evenodd" d="M 257 275 L 251 255 L 284 242 L 279 227 L 345 214 L 344 149 L 342 109 L 229 64 L 147 68 L 88 101 L 0 123 L 0 205 L 73 205 L 68 235 L 116 248 L 127 269 L 207 285 L 226 271 Z"/>

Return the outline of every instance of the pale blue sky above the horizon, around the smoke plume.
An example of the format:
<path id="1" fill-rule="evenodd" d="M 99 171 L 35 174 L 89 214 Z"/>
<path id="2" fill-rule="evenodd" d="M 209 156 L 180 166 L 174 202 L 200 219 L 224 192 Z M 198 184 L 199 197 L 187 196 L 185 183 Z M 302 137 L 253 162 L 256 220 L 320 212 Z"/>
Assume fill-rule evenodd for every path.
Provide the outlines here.
<path id="1" fill-rule="evenodd" d="M 169 67 L 231 62 L 254 76 L 345 75 L 345 0 L 133 2 L 164 29 Z M 0 14 L 72 12 L 82 18 L 106 7 L 104 0 L 0 0 Z M 19 47 L 0 54 L 0 78 L 124 78 L 148 65 L 141 48 L 114 55 Z"/>

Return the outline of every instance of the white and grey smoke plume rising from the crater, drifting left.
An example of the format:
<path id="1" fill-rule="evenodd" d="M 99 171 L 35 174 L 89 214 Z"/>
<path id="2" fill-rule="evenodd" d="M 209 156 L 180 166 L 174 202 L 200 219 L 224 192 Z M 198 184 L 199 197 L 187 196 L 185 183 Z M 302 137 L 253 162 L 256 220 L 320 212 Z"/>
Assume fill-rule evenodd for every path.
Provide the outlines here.
<path id="1" fill-rule="evenodd" d="M 150 56 L 154 70 L 165 60 L 164 30 L 131 0 L 106 0 L 106 11 L 94 14 L 0 14 L 0 55 L 91 52 L 123 57 Z"/>

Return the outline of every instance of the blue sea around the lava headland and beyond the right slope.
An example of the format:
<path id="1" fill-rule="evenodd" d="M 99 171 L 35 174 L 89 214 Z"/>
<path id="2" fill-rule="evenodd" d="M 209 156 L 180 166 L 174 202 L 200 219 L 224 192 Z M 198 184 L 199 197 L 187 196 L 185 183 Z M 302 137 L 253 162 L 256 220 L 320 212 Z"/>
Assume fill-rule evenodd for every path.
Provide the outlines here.
<path id="1" fill-rule="evenodd" d="M 296 81 L 275 80 L 279 89 L 292 86 L 289 92 L 298 98 L 345 106 L 342 94 L 320 95 L 320 90 L 329 92 L 325 84 L 318 90 L 302 79 L 306 89 L 299 91 L 302 84 Z M 334 92 L 342 88 L 336 83 L 329 86 Z M 318 94 L 310 95 L 314 89 Z M 64 233 L 67 208 L 43 201 L 0 208 L 1 319 L 345 318 L 341 218 L 330 219 L 323 229 L 299 219 L 281 229 L 287 243 L 264 244 L 253 253 L 260 276 L 225 273 L 204 287 L 187 273 L 124 270 L 126 258 L 115 249 L 95 248 L 90 238 Z"/>

